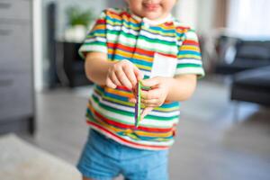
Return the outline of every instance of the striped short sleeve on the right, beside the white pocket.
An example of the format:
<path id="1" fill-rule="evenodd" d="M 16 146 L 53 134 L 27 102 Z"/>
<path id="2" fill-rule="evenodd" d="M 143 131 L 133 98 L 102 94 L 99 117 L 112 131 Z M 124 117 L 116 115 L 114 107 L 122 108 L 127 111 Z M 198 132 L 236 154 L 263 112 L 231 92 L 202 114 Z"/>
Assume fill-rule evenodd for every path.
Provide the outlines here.
<path id="1" fill-rule="evenodd" d="M 182 43 L 179 45 L 175 75 L 181 74 L 204 76 L 199 40 L 193 30 L 184 32 Z"/>

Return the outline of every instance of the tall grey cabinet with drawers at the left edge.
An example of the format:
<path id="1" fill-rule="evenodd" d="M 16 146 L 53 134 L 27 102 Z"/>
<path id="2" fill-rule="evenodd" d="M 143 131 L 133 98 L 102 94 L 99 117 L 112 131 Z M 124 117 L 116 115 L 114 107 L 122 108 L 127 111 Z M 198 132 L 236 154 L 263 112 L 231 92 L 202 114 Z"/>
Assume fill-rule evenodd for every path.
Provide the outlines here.
<path id="1" fill-rule="evenodd" d="M 34 132 L 31 0 L 0 0 L 0 133 Z"/>

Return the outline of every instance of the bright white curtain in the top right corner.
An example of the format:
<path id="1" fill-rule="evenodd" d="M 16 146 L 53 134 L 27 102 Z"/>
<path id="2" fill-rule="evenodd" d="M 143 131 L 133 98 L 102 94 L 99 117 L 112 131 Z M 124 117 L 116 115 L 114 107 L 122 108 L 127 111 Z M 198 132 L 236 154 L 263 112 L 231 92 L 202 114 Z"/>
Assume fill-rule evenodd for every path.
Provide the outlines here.
<path id="1" fill-rule="evenodd" d="M 270 0 L 229 0 L 228 28 L 243 37 L 270 38 Z"/>

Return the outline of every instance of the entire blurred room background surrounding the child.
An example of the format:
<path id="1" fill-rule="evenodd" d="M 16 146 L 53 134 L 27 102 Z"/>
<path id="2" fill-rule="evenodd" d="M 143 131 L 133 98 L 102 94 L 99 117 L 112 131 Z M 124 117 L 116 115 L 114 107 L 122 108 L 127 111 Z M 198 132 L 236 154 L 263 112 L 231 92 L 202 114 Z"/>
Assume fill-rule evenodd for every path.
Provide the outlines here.
<path id="1" fill-rule="evenodd" d="M 0 179 L 79 179 L 92 83 L 77 49 L 123 0 L 0 0 Z M 179 0 L 206 76 L 181 103 L 170 179 L 270 179 L 270 1 Z M 117 179 L 122 179 L 118 177 Z"/>

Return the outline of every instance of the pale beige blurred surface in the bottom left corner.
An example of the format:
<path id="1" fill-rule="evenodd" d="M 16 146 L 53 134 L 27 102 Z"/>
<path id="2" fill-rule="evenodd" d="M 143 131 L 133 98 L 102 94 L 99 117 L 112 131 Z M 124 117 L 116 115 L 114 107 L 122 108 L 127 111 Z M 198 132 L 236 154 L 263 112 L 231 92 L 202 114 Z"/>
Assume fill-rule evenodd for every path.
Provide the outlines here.
<path id="1" fill-rule="evenodd" d="M 54 157 L 14 134 L 0 136 L 0 179 L 81 179 L 75 166 Z"/>

